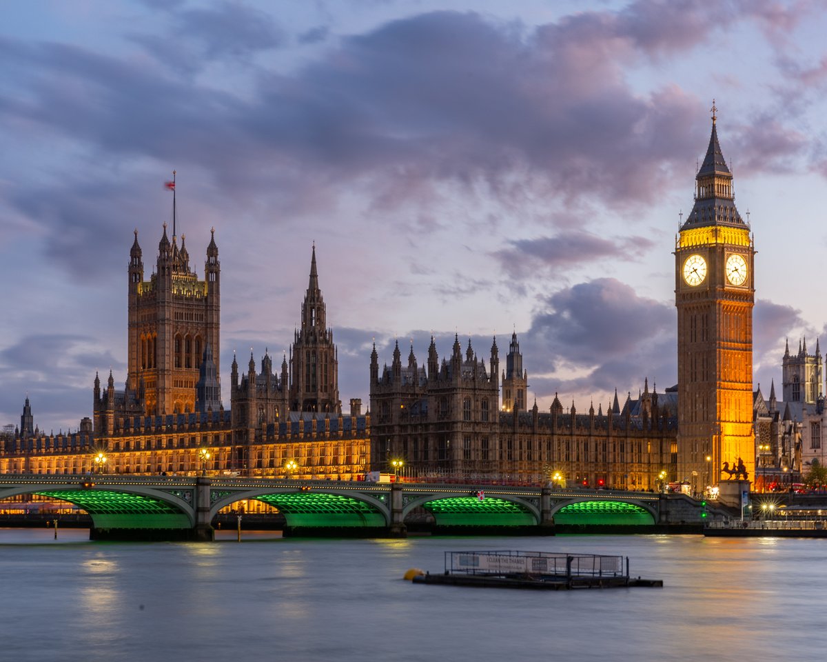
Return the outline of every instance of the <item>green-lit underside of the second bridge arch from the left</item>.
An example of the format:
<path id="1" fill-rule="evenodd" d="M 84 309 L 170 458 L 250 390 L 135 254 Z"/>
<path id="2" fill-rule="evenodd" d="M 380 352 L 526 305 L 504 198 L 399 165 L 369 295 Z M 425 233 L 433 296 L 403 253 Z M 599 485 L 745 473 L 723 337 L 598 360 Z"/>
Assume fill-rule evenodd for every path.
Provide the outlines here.
<path id="1" fill-rule="evenodd" d="M 290 526 L 385 526 L 385 516 L 365 501 L 342 494 L 289 492 L 250 497 L 279 509 Z"/>

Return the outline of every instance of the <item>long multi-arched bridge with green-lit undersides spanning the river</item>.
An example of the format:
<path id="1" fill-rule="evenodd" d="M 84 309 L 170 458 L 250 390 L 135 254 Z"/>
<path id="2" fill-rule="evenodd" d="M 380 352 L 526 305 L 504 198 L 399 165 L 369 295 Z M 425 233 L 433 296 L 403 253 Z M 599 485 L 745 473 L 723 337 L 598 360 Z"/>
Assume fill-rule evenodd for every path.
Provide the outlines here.
<path id="1" fill-rule="evenodd" d="M 453 531 L 552 533 L 555 525 L 634 527 L 699 525 L 707 506 L 681 494 L 416 482 L 344 482 L 246 477 L 6 474 L 3 499 L 31 494 L 86 511 L 92 539 L 213 540 L 218 512 L 256 499 L 280 511 L 285 533 L 404 537 L 423 516 Z M 714 509 L 709 509 L 710 514 Z M 361 530 L 361 531 L 360 531 Z"/>

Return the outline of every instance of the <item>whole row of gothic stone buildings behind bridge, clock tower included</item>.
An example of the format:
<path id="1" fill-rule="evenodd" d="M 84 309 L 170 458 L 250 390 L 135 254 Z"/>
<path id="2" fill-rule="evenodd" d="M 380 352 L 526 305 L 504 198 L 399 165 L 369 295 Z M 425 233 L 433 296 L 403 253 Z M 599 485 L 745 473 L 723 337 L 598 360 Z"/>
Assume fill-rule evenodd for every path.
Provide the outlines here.
<path id="1" fill-rule="evenodd" d="M 198 473 L 354 480 L 367 471 L 420 479 L 558 482 L 657 490 L 714 487 L 738 465 L 760 487 L 790 482 L 820 458 L 824 396 L 820 347 L 789 348 L 782 400 L 752 383 L 755 249 L 734 204 L 715 113 L 696 173 L 692 212 L 676 237 L 678 384 L 645 379 L 633 398 L 579 409 L 527 397 L 519 338 L 478 353 L 455 336 L 422 361 L 399 343 L 369 361 L 370 406 L 343 410 L 337 347 L 327 326 L 316 247 L 289 353 L 233 357 L 230 403 L 221 398 L 221 263 L 215 231 L 203 280 L 182 235 L 166 224 L 147 279 L 137 232 L 129 253 L 127 375 L 93 382 L 93 412 L 77 432 L 43 434 L 26 398 L 20 426 L 0 444 L 0 472 Z M 441 339 L 442 342 L 442 339 Z M 204 457 L 208 453 L 208 461 Z"/>

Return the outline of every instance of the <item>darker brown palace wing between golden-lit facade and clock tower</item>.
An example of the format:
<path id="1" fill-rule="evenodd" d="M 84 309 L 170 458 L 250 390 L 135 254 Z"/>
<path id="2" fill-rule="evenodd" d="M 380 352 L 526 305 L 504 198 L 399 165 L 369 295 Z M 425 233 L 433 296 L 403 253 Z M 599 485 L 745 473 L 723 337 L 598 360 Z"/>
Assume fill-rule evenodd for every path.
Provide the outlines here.
<path id="1" fill-rule="evenodd" d="M 418 366 L 411 348 L 404 366 L 399 344 L 390 367 L 379 369 L 374 348 L 370 357 L 370 407 L 373 423 L 371 468 L 393 471 L 404 462 L 412 478 L 467 482 L 558 481 L 591 487 L 649 490 L 674 480 L 676 474 L 676 407 L 674 394 L 658 396 L 648 382 L 638 400 L 629 397 L 620 410 L 606 415 L 578 415 L 574 403 L 566 412 L 555 398 L 547 412 L 535 403 L 525 410 L 527 372 L 514 333 L 503 372 L 499 402 L 499 351 L 491 345 L 489 368 L 471 347 L 461 353 L 454 338 L 451 357 L 439 361 L 434 339 L 428 364 Z M 666 476 L 661 478 L 661 472 Z"/>

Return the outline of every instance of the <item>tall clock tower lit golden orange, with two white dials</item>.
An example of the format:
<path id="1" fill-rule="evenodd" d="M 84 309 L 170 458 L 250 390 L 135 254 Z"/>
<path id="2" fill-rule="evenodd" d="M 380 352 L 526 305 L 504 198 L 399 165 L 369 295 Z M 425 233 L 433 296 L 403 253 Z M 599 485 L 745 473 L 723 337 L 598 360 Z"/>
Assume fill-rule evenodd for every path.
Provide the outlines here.
<path id="1" fill-rule="evenodd" d="M 724 463 L 753 477 L 755 248 L 735 208 L 715 130 L 696 175 L 695 206 L 675 246 L 678 480 L 718 485 Z M 743 464 L 742 464 L 743 463 Z M 734 474 L 733 474 L 734 475 Z M 728 476 L 729 477 L 729 476 Z"/>

